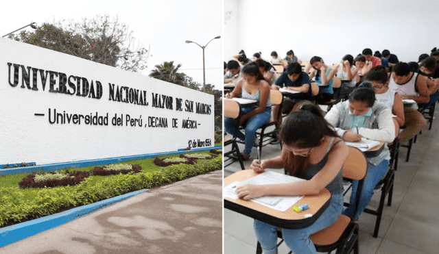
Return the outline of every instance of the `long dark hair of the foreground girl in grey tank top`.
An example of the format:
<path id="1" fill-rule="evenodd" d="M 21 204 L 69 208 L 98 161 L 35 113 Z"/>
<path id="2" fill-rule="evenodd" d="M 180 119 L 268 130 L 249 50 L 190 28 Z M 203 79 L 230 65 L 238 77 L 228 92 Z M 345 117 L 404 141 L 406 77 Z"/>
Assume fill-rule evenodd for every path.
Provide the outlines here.
<path id="1" fill-rule="evenodd" d="M 296 148 L 318 147 L 324 136 L 338 137 L 335 130 L 324 120 L 320 107 L 312 103 L 298 102 L 299 109 L 290 113 L 283 122 L 281 138 L 287 146 Z M 289 153 L 285 173 L 302 176 L 309 167 L 309 157 Z"/>

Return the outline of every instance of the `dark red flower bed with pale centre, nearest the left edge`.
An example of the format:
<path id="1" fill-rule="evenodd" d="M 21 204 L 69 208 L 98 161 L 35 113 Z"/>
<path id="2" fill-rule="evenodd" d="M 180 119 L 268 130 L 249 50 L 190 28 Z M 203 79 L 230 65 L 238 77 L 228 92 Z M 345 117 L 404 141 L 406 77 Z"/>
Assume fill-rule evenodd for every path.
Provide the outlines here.
<path id="1" fill-rule="evenodd" d="M 23 181 L 19 182 L 19 186 L 20 188 L 75 186 L 88 176 L 90 176 L 88 171 L 73 171 L 69 173 L 69 170 L 66 170 L 65 174 L 60 174 L 59 172 L 32 173 L 23 178 Z"/>

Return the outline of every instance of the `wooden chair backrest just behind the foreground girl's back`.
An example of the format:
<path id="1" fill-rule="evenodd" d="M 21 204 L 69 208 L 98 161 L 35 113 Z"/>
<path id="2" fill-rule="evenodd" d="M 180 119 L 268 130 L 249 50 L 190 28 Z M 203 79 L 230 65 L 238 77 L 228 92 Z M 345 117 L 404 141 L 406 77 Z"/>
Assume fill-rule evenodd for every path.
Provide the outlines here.
<path id="1" fill-rule="evenodd" d="M 364 153 L 355 147 L 349 147 L 349 155 L 343 164 L 343 177 L 361 180 L 366 176 L 368 162 Z"/>

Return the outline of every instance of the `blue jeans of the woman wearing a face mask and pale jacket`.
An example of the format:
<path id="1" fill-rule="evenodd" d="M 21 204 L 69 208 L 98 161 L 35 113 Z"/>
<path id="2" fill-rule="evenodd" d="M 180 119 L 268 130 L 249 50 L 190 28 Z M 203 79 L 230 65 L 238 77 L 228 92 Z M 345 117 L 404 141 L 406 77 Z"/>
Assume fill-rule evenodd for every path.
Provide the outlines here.
<path id="1" fill-rule="evenodd" d="M 373 166 L 368 163 L 368 170 L 366 172 L 366 177 L 364 178 L 363 190 L 361 192 L 361 196 L 359 199 L 357 215 L 355 216 L 355 220 L 358 220 L 361 213 L 366 209 L 370 199 L 373 196 L 373 190 L 375 190 L 375 186 L 377 183 L 383 179 L 385 173 L 387 173 L 387 169 L 389 166 L 388 160 L 383 160 L 377 166 Z M 352 216 L 355 208 L 355 195 L 357 194 L 358 181 L 352 182 L 352 194 L 351 200 L 349 201 L 349 207 L 344 209 L 343 214 L 347 216 Z"/>

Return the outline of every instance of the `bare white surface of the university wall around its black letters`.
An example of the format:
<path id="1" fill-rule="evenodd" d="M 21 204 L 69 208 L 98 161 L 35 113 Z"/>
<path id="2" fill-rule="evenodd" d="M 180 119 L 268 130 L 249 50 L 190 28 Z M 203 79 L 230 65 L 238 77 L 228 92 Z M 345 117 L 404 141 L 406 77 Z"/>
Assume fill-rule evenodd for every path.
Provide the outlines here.
<path id="1" fill-rule="evenodd" d="M 89 83 L 93 80 L 94 85 L 100 81 L 102 98 L 49 92 L 49 80 L 43 90 L 39 71 L 36 76 L 38 90 L 28 89 L 22 81 L 21 68 L 18 85 L 11 86 L 10 83 L 14 84 L 14 67 L 9 68 L 8 63 L 65 73 L 67 77 L 86 77 Z M 54 77 L 54 88 L 58 88 L 60 81 Z M 31 75 L 31 87 L 32 79 Z M 148 105 L 112 101 L 109 83 L 119 88 L 128 86 L 145 90 Z M 22 84 L 25 88 L 21 88 Z M 69 84 L 67 89 L 73 92 Z M 172 110 L 152 107 L 152 93 L 172 97 Z M 0 164 L 47 164 L 178 151 L 188 147 L 189 140 L 211 140 L 211 144 L 204 143 L 204 147 L 213 146 L 212 95 L 5 38 L 0 38 L 0 94 Z M 182 111 L 176 110 L 176 98 L 182 99 Z M 185 101 L 193 101 L 193 112 L 185 111 Z M 209 105 L 211 114 L 197 114 L 195 102 Z M 49 109 L 51 114 L 54 114 L 54 109 L 62 114 L 64 111 L 93 116 L 96 112 L 98 116 L 108 114 L 108 125 L 86 125 L 84 119 L 80 124 L 50 123 Z M 112 125 L 115 114 L 123 114 L 122 126 Z M 131 126 L 126 122 L 127 115 L 141 118 L 142 126 L 139 127 L 139 123 L 136 127 Z M 153 116 L 166 118 L 168 127 L 150 127 L 148 118 Z M 178 127 L 172 127 L 173 118 L 178 119 Z M 196 120 L 197 129 L 183 129 L 183 119 Z"/>

